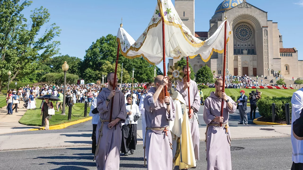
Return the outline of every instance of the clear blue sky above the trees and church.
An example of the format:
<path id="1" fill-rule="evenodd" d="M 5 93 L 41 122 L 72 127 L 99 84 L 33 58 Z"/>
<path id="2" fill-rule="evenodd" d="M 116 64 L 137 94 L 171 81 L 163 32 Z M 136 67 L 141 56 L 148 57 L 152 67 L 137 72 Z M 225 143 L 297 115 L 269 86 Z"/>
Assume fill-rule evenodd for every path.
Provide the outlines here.
<path id="1" fill-rule="evenodd" d="M 85 50 L 96 39 L 107 34 L 116 35 L 121 17 L 123 28 L 136 40 L 147 27 L 155 10 L 156 0 L 32 0 L 23 11 L 29 18 L 31 10 L 48 8 L 51 23 L 62 29 L 60 53 L 83 59 Z M 174 0 L 172 0 L 174 3 Z M 222 0 L 195 0 L 195 31 L 208 31 L 209 20 Z M 303 60 L 303 0 L 247 0 L 268 12 L 268 20 L 278 22 L 285 48 L 296 47 Z M 167 61 L 168 62 L 168 61 Z M 163 71 L 163 64 L 158 67 Z"/>

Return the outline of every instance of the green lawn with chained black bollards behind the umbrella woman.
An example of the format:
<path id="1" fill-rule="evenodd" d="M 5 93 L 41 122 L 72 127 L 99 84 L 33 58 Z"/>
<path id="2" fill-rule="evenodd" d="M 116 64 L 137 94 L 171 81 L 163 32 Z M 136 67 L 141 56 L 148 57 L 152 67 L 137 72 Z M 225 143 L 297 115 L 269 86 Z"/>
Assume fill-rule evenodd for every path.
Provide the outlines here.
<path id="1" fill-rule="evenodd" d="M 37 108 L 39 108 L 42 100 L 37 99 L 36 102 L 37 102 L 36 106 L 37 106 Z M 53 105 L 55 108 L 56 107 L 55 102 L 53 102 Z M 52 115 L 52 119 L 49 120 L 49 126 L 73 122 L 73 121 L 76 121 L 79 119 L 86 118 L 86 117 L 84 117 L 84 107 L 83 106 L 84 106 L 84 103 L 76 103 L 73 106 L 73 108 L 75 108 L 76 110 L 72 108 L 72 119 L 71 120 L 67 120 L 68 119 L 68 107 L 65 107 L 66 116 L 62 116 L 61 111 L 55 112 L 55 115 Z M 55 108 L 55 110 L 56 110 L 56 108 Z M 79 110 L 79 111 L 77 111 L 77 110 Z M 88 116 L 89 111 L 90 111 L 90 107 L 88 106 L 87 107 L 87 117 L 89 117 Z M 19 120 L 19 123 L 24 124 L 24 125 L 29 125 L 29 126 L 41 126 L 42 117 L 40 116 L 40 114 L 41 114 L 41 109 L 27 110 L 25 112 L 25 114 L 22 116 L 22 118 Z M 73 115 L 75 115 L 75 116 L 73 116 Z"/>

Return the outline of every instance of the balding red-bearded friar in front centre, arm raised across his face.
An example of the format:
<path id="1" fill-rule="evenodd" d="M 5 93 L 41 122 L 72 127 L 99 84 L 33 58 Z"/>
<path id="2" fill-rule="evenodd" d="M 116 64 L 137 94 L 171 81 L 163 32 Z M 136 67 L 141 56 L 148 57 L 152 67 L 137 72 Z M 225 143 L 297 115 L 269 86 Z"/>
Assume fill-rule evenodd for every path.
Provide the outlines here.
<path id="1" fill-rule="evenodd" d="M 164 87 L 168 77 L 158 75 L 155 87 L 151 87 L 144 98 L 145 108 L 145 154 L 148 170 L 172 169 L 172 142 L 169 132 L 169 121 L 175 119 L 175 106 Z M 144 162 L 145 163 L 145 162 Z"/>

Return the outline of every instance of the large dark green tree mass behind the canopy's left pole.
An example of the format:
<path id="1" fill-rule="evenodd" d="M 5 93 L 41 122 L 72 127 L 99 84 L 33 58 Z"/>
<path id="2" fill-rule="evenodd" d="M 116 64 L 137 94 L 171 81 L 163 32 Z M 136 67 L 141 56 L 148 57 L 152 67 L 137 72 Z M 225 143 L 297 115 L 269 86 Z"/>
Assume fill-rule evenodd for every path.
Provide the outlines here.
<path id="1" fill-rule="evenodd" d="M 106 37 L 101 37 L 97 39 L 96 42 L 93 42 L 92 45 L 88 48 L 88 50 L 86 50 L 86 54 L 82 63 L 82 77 L 85 80 L 97 80 L 100 79 L 100 77 L 97 76 L 97 78 L 95 76 L 96 74 L 100 75 L 101 72 L 107 73 L 106 70 L 102 70 L 103 65 L 106 63 L 106 61 L 108 61 L 110 64 L 115 64 L 118 47 L 118 43 L 116 41 L 116 36 L 108 34 Z M 149 64 L 143 57 L 128 59 L 122 56 L 121 52 L 119 52 L 118 63 L 118 74 L 121 74 L 121 66 L 123 63 L 123 74 L 125 73 L 125 70 L 128 73 L 132 73 L 132 69 L 135 68 L 134 81 L 153 81 L 152 77 L 154 77 L 154 66 Z M 89 71 L 93 71 L 94 74 L 88 73 Z M 163 74 L 158 67 L 157 74 Z M 123 79 L 123 81 L 128 82 L 131 80 Z"/>

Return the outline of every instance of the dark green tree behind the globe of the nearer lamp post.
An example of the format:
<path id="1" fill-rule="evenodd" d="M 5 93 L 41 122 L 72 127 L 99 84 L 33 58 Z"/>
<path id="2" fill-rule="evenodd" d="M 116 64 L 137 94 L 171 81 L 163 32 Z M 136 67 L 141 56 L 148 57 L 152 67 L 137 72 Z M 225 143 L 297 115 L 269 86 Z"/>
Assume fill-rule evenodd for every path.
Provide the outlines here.
<path id="1" fill-rule="evenodd" d="M 52 68 L 51 72 L 53 73 L 61 73 L 62 72 L 62 64 L 64 61 L 69 65 L 68 73 L 80 75 L 80 68 L 82 60 L 78 57 L 71 57 L 69 55 L 61 55 L 57 57 L 53 57 L 46 64 Z"/>

